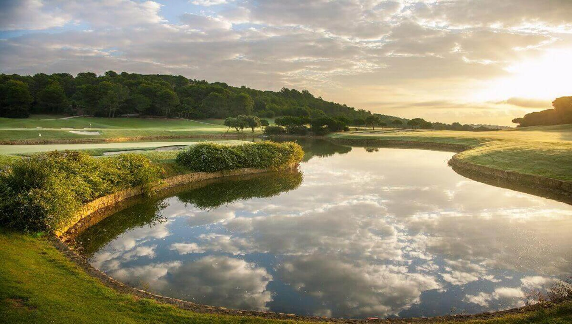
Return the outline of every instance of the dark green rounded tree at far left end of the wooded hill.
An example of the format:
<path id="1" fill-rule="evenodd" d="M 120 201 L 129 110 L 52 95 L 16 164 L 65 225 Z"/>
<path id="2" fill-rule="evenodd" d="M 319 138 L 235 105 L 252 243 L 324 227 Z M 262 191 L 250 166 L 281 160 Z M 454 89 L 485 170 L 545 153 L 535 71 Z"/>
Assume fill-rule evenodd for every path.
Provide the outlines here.
<path id="1" fill-rule="evenodd" d="M 2 85 L 2 94 L 0 105 L 0 115 L 10 118 L 25 118 L 28 117 L 30 105 L 34 98 L 30 94 L 30 89 L 27 83 L 10 80 Z"/>

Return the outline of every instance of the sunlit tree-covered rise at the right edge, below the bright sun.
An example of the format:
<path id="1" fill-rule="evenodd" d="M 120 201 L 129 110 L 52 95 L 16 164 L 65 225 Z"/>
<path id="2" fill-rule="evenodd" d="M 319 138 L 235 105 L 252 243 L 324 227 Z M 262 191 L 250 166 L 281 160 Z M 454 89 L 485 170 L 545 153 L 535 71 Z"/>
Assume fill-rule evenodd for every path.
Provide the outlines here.
<path id="1" fill-rule="evenodd" d="M 518 127 L 538 125 L 562 125 L 572 123 L 572 97 L 559 97 L 552 102 L 552 109 L 535 111 L 524 117 L 514 118 Z"/>

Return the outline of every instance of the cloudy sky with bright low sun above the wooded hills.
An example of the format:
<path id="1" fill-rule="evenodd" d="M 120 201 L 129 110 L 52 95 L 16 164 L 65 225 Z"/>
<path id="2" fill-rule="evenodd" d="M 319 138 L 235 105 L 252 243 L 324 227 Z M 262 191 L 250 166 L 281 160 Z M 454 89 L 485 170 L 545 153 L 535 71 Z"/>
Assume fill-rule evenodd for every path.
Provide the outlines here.
<path id="1" fill-rule="evenodd" d="M 0 73 L 184 75 L 511 125 L 572 95 L 572 0 L 0 0 Z"/>

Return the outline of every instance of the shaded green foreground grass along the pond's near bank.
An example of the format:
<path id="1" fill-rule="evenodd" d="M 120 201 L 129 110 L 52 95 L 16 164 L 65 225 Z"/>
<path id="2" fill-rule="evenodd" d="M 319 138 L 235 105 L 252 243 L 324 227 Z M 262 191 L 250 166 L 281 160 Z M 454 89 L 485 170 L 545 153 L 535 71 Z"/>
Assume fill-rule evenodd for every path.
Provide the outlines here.
<path id="1" fill-rule="evenodd" d="M 198 314 L 120 294 L 89 277 L 41 237 L 0 231 L 0 260 L 0 319 L 5 323 L 304 323 Z M 570 322 L 572 302 L 467 323 Z"/>

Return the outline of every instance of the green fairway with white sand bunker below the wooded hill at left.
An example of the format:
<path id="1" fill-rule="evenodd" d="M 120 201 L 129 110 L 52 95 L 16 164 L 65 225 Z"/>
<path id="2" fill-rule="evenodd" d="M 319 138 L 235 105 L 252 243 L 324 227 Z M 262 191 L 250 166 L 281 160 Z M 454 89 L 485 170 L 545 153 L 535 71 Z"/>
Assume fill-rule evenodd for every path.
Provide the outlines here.
<path id="1" fill-rule="evenodd" d="M 44 116 L 45 117 L 45 116 Z M 70 130 L 99 131 L 100 135 L 73 134 Z M 41 128 L 37 128 L 41 127 Z M 65 129 L 64 129 L 65 128 Z M 76 138 L 120 138 L 136 136 L 208 135 L 225 133 L 227 127 L 166 118 L 92 118 L 70 119 L 0 118 L 0 141 Z"/>

